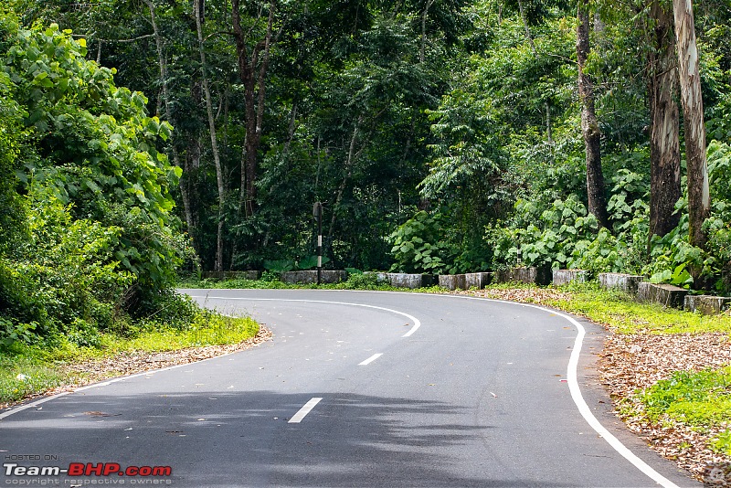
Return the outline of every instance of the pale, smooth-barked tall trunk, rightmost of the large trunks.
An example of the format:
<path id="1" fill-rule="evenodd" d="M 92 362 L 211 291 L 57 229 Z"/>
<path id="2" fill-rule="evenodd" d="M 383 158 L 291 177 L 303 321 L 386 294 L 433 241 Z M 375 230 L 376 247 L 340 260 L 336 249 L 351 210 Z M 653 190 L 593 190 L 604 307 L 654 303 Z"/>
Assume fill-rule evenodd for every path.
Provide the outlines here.
<path id="1" fill-rule="evenodd" d="M 678 51 L 680 94 L 683 104 L 685 158 L 688 163 L 688 219 L 690 243 L 705 248 L 703 223 L 711 213 L 708 165 L 705 161 L 705 125 L 698 48 L 695 44 L 691 0 L 673 0 Z"/>

